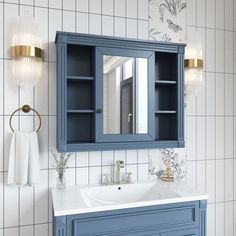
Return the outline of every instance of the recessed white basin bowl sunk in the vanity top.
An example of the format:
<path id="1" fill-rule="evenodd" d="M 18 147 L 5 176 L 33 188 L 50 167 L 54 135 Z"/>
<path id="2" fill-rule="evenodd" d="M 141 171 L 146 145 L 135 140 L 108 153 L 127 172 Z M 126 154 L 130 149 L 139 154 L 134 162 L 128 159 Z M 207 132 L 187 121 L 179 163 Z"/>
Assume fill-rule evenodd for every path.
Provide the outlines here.
<path id="1" fill-rule="evenodd" d="M 101 186 L 82 188 L 80 191 L 89 207 L 180 197 L 170 188 L 157 183 Z"/>

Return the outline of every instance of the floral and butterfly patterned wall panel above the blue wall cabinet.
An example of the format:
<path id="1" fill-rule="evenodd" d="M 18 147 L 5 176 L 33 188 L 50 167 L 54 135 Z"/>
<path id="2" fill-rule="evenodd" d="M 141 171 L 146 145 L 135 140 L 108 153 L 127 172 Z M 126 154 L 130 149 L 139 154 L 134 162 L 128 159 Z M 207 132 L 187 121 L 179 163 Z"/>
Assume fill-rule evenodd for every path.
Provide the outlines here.
<path id="1" fill-rule="evenodd" d="M 186 0 L 149 0 L 149 39 L 186 42 Z"/>

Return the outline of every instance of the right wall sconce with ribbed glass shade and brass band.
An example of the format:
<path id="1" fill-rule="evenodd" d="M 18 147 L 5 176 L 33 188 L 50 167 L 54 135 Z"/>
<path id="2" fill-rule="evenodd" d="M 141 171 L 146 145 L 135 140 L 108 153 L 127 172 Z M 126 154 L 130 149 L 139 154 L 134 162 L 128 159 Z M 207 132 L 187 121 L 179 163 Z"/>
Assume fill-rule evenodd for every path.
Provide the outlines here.
<path id="1" fill-rule="evenodd" d="M 202 83 L 202 49 L 186 48 L 185 53 L 185 85 L 188 88 L 195 89 Z"/>

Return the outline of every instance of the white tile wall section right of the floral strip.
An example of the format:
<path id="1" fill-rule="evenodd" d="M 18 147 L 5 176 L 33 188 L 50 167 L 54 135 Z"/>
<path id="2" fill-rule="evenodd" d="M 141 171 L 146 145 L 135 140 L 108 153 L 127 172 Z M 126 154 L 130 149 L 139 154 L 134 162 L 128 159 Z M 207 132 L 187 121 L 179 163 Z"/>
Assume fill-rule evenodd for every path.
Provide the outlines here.
<path id="1" fill-rule="evenodd" d="M 194 31 L 202 36 L 205 83 L 204 91 L 190 95 L 186 108 L 187 182 L 209 194 L 207 235 L 234 236 L 236 2 L 190 2 L 187 38 Z"/>

